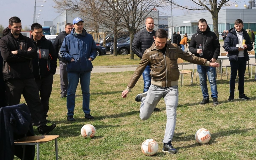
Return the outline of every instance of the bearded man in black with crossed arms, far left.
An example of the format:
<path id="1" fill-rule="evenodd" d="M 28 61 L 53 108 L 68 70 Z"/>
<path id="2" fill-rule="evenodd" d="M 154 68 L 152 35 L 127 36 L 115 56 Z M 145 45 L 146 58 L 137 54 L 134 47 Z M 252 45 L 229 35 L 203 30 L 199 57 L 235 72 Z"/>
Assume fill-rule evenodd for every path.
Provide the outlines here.
<path id="1" fill-rule="evenodd" d="M 11 17 L 9 19 L 10 32 L 0 40 L 8 103 L 9 106 L 20 104 L 22 94 L 38 132 L 47 134 L 56 125 L 46 126 L 43 106 L 32 73 L 32 59 L 37 58 L 36 48 L 30 38 L 21 34 L 21 28 L 20 18 Z"/>

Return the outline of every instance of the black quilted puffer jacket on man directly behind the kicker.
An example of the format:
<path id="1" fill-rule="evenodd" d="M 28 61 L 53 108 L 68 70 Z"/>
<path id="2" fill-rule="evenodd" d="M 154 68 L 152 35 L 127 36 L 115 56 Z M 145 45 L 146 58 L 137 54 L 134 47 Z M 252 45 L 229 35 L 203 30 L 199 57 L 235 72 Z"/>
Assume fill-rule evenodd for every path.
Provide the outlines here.
<path id="1" fill-rule="evenodd" d="M 153 30 L 151 33 L 146 29 L 139 31 L 135 34 L 133 43 L 132 43 L 132 51 L 142 59 L 142 55 L 146 49 L 152 46 L 153 42 L 155 42 L 154 37 L 155 31 Z"/>

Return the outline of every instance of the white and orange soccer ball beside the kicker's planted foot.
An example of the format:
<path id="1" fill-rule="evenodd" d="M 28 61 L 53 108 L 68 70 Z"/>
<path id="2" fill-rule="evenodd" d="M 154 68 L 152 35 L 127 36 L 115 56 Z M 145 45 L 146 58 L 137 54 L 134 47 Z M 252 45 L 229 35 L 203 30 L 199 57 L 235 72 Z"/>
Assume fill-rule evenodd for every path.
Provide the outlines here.
<path id="1" fill-rule="evenodd" d="M 154 139 L 146 139 L 142 143 L 142 153 L 146 156 L 155 155 L 158 151 L 158 143 Z"/>

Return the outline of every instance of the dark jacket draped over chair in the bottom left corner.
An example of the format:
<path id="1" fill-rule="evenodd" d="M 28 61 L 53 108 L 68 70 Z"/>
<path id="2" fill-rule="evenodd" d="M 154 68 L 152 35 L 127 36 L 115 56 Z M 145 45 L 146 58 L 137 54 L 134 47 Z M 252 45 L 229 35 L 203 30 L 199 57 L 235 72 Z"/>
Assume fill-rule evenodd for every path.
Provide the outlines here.
<path id="1" fill-rule="evenodd" d="M 23 148 L 14 140 L 34 135 L 31 114 L 26 104 L 0 108 L 0 160 L 22 159 Z M 25 159 L 34 159 L 34 145 L 26 146 Z"/>

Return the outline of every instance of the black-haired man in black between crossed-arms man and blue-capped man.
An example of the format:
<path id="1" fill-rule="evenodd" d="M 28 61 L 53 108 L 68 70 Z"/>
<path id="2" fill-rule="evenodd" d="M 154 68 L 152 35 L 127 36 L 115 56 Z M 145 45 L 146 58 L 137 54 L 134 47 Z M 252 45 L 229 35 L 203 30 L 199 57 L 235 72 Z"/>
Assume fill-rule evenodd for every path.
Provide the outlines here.
<path id="1" fill-rule="evenodd" d="M 31 40 L 37 50 L 33 59 L 33 74 L 41 97 L 44 117 L 48 117 L 49 99 L 52 93 L 53 75 L 57 68 L 57 54 L 51 41 L 43 36 L 43 27 L 38 23 L 31 25 Z M 46 120 L 47 122 L 50 122 Z"/>

